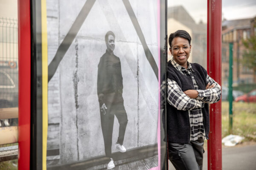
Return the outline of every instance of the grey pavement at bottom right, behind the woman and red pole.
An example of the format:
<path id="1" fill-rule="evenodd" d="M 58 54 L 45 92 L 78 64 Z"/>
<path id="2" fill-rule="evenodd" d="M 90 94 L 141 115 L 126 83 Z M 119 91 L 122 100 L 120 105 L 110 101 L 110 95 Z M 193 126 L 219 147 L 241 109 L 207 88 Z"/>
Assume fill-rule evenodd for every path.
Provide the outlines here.
<path id="1" fill-rule="evenodd" d="M 223 170 L 256 170 L 256 143 L 222 147 Z M 169 170 L 175 170 L 169 161 Z M 207 170 L 207 150 L 204 153 L 203 170 Z"/>

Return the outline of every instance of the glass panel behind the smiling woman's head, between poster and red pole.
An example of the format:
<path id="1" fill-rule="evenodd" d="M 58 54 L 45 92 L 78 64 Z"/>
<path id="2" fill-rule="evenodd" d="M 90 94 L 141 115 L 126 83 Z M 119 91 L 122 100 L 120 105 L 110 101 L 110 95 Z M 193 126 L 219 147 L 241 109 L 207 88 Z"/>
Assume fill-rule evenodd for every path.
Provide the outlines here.
<path id="1" fill-rule="evenodd" d="M 187 31 L 192 38 L 188 61 L 207 69 L 207 1 L 168 0 L 168 36 L 177 30 Z"/>

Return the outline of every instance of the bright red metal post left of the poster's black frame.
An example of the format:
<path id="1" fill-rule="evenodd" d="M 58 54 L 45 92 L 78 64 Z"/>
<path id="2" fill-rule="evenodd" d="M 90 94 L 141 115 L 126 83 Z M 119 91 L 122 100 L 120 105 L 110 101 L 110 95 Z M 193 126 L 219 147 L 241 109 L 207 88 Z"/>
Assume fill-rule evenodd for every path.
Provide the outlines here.
<path id="1" fill-rule="evenodd" d="M 30 43 L 30 0 L 18 0 L 19 170 L 29 170 L 30 164 Z"/>

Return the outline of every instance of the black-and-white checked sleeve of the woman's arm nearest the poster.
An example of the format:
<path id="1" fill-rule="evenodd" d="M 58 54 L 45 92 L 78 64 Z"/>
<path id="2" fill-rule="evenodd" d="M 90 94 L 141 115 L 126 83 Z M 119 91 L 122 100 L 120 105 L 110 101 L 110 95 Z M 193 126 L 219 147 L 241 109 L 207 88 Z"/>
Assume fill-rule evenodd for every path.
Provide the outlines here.
<path id="1" fill-rule="evenodd" d="M 194 108 L 203 108 L 204 101 L 191 99 L 183 93 L 180 86 L 174 80 L 168 79 L 167 101 L 177 110 L 187 111 Z"/>

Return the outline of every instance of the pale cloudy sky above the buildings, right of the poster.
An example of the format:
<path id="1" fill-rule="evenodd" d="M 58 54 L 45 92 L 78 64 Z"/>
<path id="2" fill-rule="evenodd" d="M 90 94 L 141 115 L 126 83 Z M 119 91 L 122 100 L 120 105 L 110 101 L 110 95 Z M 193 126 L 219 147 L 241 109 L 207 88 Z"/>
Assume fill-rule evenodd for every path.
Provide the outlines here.
<path id="1" fill-rule="evenodd" d="M 207 23 L 207 0 L 168 0 L 168 6 L 182 5 L 198 23 Z M 256 17 L 256 0 L 222 0 L 222 17 L 237 20 Z"/>

